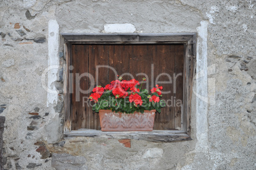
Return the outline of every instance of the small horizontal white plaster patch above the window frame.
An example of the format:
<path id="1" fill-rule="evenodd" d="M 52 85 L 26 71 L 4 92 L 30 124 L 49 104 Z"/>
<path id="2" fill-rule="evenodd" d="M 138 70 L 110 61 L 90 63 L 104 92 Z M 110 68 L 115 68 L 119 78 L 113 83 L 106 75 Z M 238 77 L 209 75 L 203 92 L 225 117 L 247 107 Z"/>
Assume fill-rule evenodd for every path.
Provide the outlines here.
<path id="1" fill-rule="evenodd" d="M 104 32 L 106 33 L 132 33 L 136 28 L 132 24 L 105 24 Z"/>

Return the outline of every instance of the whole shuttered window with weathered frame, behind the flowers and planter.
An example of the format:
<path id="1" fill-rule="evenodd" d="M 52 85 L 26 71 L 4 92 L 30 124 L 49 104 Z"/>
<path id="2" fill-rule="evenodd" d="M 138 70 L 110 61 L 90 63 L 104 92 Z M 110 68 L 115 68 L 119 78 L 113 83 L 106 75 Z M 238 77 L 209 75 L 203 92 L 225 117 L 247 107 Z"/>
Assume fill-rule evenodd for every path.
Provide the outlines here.
<path id="1" fill-rule="evenodd" d="M 190 103 L 194 72 L 195 34 L 62 34 L 66 136 L 112 136 L 153 141 L 190 139 Z M 108 66 L 108 67 L 106 67 Z M 112 69 L 110 69 L 110 67 Z M 117 73 L 115 73 L 117 71 Z M 116 74 L 148 79 L 148 89 L 164 87 L 167 107 L 156 114 L 153 132 L 101 132 L 99 116 L 89 106 L 87 90 L 106 85 Z M 124 74 L 125 79 L 131 76 Z M 164 83 L 163 83 L 164 81 Z M 76 131 L 84 129 L 83 131 Z M 95 129 L 95 130 L 89 130 Z M 134 135 L 132 135 L 134 134 Z M 137 135 L 135 135 L 137 134 Z M 138 135 L 139 134 L 139 135 Z M 139 137 L 138 137 L 139 136 Z"/>

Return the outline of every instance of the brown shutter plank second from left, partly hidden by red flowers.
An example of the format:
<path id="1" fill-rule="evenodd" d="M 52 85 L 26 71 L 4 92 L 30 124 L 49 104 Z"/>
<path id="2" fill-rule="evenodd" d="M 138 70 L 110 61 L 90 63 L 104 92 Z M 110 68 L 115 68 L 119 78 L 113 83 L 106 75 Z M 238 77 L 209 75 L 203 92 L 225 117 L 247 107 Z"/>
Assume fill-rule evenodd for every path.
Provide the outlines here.
<path id="1" fill-rule="evenodd" d="M 108 66 L 108 52 L 109 46 L 106 45 L 90 45 L 89 46 L 89 73 L 95 78 L 95 85 L 104 85 L 108 84 L 108 68 L 97 66 Z M 99 124 L 99 114 L 92 111 L 92 108 L 89 110 L 89 129 L 100 129 Z"/>

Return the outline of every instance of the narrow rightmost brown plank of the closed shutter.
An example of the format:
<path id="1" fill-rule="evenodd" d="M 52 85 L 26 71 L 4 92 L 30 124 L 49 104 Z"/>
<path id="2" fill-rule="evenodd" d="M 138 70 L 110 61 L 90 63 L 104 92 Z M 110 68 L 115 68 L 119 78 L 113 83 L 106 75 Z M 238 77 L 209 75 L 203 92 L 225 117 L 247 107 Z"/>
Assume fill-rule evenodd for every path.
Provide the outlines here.
<path id="1" fill-rule="evenodd" d="M 175 77 L 174 78 L 174 94 L 176 97 L 175 106 L 175 129 L 181 129 L 181 103 L 183 100 L 183 45 L 175 46 Z M 181 101 L 181 102 L 180 102 Z"/>

